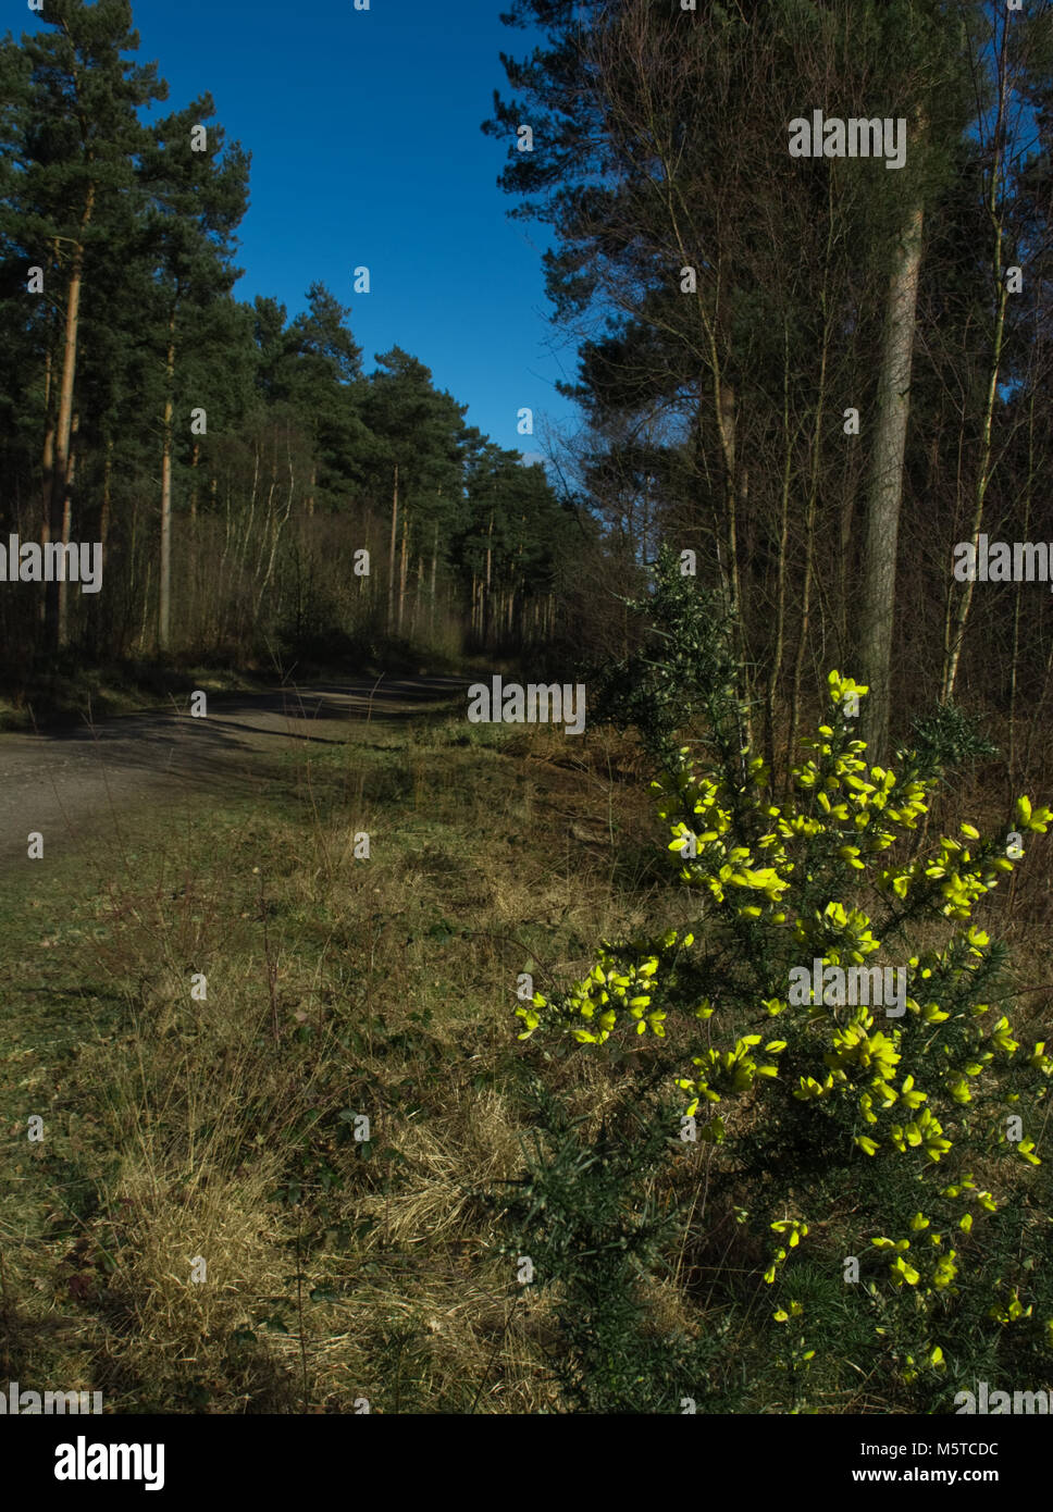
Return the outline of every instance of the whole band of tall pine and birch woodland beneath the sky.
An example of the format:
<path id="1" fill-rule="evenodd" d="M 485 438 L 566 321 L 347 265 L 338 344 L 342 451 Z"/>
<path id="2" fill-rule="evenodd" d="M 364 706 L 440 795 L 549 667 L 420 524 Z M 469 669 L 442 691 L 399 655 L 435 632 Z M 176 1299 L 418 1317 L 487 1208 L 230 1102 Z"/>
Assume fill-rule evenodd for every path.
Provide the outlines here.
<path id="1" fill-rule="evenodd" d="M 667 540 L 738 617 L 769 758 L 837 664 L 874 748 L 973 697 L 1017 762 L 1048 591 L 961 585 L 952 550 L 1053 535 L 1047 5 L 517 0 L 548 42 L 484 129 L 579 333 L 557 485 L 410 354 L 366 372 L 321 284 L 292 321 L 239 302 L 248 150 L 207 95 L 142 124 L 166 86 L 126 0 L 42 15 L 0 48 L 0 532 L 103 540 L 106 587 L 0 597 L 15 689 L 56 652 L 566 670 L 626 650 L 617 594 Z M 905 118 L 906 168 L 791 159 L 812 109 Z"/>

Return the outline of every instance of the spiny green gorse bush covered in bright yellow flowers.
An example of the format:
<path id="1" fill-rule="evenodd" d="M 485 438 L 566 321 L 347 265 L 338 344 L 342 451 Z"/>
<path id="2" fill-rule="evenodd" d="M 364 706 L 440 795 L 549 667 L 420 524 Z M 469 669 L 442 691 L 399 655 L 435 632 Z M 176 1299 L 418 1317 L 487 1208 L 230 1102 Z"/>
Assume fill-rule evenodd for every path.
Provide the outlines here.
<path id="1" fill-rule="evenodd" d="M 1053 1362 L 1053 1058 L 1014 1031 L 1008 953 L 973 915 L 1053 815 L 1020 798 L 997 835 L 962 823 L 924 842 L 941 721 L 897 771 L 868 767 L 853 738 L 867 688 L 837 671 L 790 797 L 772 801 L 737 742 L 728 641 L 700 600 L 681 608 L 716 676 L 693 699 L 697 742 L 670 745 L 669 700 L 654 705 L 679 918 L 601 942 L 570 990 L 517 1010 L 520 1039 L 628 1040 L 641 1084 L 667 1078 L 705 1172 L 687 1240 L 708 1255 L 708 1229 L 735 1234 L 734 1264 L 704 1267 L 699 1334 L 728 1309 L 749 1318 L 769 1406 L 953 1411 L 977 1379 L 1035 1390 Z M 949 723 L 950 754 L 976 753 Z"/>

